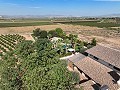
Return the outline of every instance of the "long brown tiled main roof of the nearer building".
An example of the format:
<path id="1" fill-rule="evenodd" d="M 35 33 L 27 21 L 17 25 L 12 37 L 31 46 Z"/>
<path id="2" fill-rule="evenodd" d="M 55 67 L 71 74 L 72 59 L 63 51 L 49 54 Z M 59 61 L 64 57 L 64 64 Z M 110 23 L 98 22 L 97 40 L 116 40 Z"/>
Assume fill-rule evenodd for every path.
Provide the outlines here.
<path id="1" fill-rule="evenodd" d="M 86 57 L 74 64 L 96 83 L 99 83 L 100 85 L 108 85 L 110 90 L 118 89 L 117 84 L 114 84 L 113 82 L 114 78 L 110 74 L 113 71 L 99 62 Z"/>

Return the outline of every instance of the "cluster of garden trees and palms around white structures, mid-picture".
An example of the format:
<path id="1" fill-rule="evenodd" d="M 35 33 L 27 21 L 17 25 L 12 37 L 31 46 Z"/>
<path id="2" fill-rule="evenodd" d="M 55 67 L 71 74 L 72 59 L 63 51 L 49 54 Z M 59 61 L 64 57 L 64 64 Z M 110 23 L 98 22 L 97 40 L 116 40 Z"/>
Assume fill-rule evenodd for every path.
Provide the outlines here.
<path id="1" fill-rule="evenodd" d="M 75 52 L 84 54 L 85 50 L 96 46 L 97 43 L 95 38 L 93 38 L 91 43 L 88 43 L 80 41 L 78 39 L 78 35 L 69 34 L 67 36 L 61 28 L 56 28 L 55 30 L 50 30 L 49 32 L 37 28 L 33 30 L 33 37 L 36 40 L 48 37 L 48 39 L 52 42 L 53 49 L 57 50 L 60 57 L 68 56 Z M 68 49 L 72 49 L 72 51 L 69 51 Z"/>

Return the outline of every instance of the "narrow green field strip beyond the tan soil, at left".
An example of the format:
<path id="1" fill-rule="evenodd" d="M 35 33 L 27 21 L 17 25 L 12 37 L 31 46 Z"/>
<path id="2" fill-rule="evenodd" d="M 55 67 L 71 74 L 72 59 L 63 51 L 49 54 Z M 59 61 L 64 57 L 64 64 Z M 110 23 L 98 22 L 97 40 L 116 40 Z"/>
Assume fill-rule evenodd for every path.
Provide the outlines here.
<path id="1" fill-rule="evenodd" d="M 22 26 L 39 26 L 39 25 L 51 25 L 51 22 L 14 22 L 14 23 L 0 23 L 0 27 L 22 27 Z"/>

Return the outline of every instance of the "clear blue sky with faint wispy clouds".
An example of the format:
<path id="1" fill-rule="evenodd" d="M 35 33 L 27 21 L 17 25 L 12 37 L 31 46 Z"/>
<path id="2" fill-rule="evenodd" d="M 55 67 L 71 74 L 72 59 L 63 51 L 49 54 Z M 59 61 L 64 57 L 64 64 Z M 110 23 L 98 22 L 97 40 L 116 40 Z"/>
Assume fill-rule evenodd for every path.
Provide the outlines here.
<path id="1" fill-rule="evenodd" d="M 0 0 L 0 15 L 120 14 L 120 0 Z"/>

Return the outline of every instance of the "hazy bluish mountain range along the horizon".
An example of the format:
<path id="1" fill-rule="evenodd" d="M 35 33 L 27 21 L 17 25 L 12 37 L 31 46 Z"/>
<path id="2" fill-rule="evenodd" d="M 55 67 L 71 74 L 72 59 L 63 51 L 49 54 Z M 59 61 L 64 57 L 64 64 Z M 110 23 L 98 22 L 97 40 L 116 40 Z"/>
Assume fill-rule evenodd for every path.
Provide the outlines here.
<path id="1" fill-rule="evenodd" d="M 17 18 L 108 18 L 108 17 L 120 17 L 120 14 L 109 14 L 109 15 L 99 15 L 99 16 L 70 16 L 70 15 L 0 15 L 0 18 L 5 19 L 17 19 Z"/>

